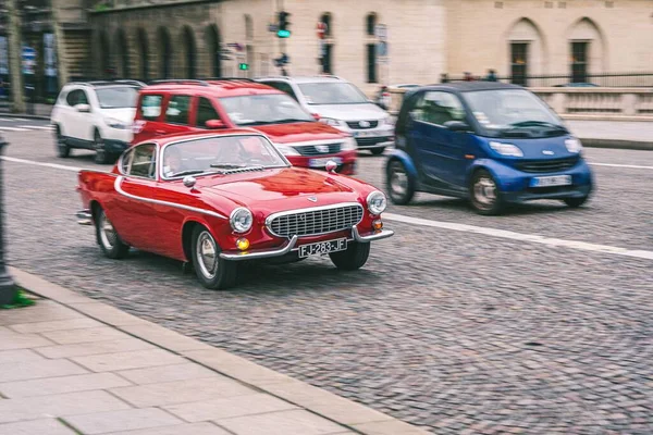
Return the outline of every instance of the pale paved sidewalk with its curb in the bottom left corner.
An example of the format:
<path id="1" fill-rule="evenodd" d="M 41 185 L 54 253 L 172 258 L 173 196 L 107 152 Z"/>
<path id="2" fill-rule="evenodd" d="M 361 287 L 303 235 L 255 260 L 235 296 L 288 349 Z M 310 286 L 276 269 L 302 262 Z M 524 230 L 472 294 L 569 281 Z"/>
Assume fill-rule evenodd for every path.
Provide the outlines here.
<path id="1" fill-rule="evenodd" d="M 415 426 L 11 268 L 0 435 L 418 435 Z"/>

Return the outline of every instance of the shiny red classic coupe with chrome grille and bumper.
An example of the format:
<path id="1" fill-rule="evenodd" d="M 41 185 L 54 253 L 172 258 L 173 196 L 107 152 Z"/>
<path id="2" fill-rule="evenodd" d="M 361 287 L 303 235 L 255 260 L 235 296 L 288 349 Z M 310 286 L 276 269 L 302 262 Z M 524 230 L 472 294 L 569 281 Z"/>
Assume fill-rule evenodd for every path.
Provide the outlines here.
<path id="1" fill-rule="evenodd" d="M 385 195 L 333 172 L 293 167 L 249 129 L 159 137 L 126 150 L 110 173 L 79 171 L 84 210 L 109 258 L 130 246 L 192 264 L 208 288 L 236 283 L 236 262 L 329 254 L 361 268 L 390 237 Z"/>

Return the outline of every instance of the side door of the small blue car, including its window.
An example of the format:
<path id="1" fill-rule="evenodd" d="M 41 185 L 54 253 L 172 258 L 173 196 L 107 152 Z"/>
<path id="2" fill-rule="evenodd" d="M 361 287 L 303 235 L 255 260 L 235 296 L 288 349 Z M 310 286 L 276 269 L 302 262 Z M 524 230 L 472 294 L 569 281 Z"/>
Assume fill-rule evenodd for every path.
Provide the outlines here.
<path id="1" fill-rule="evenodd" d="M 426 90 L 419 96 L 410 117 L 411 138 L 427 183 L 447 189 L 463 188 L 470 136 L 444 126 L 448 121 L 466 121 L 458 97 L 446 91 Z"/>

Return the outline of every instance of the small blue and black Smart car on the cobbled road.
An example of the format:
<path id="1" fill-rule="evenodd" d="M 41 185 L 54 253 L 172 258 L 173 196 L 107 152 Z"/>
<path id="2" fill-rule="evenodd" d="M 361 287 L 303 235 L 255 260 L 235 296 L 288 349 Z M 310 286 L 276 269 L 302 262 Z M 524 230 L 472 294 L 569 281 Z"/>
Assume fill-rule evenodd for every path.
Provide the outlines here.
<path id="1" fill-rule="evenodd" d="M 580 141 L 540 98 L 515 85 L 464 82 L 404 98 L 386 187 L 396 204 L 416 191 L 468 198 L 481 214 L 507 202 L 560 199 L 580 207 L 592 174 Z"/>

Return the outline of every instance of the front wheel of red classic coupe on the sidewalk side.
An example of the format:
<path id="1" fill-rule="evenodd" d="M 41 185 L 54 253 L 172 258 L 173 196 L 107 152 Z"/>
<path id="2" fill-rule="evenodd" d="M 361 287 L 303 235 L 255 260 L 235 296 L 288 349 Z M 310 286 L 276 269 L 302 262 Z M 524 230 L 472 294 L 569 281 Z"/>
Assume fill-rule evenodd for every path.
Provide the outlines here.
<path id="1" fill-rule="evenodd" d="M 223 290 L 236 284 L 237 264 L 220 258 L 221 249 L 211 233 L 197 225 L 193 231 L 193 268 L 206 288 Z"/>

